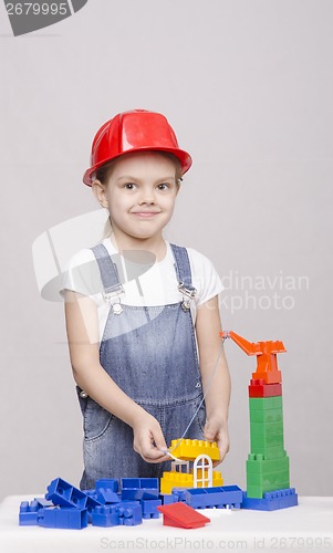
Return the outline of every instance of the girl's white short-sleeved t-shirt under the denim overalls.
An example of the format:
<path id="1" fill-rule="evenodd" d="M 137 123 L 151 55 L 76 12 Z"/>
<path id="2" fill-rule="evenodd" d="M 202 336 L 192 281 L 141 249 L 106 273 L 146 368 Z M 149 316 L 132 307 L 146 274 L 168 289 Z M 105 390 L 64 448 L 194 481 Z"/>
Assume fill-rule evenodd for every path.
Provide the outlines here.
<path id="1" fill-rule="evenodd" d="M 112 261 L 117 265 L 119 280 L 124 293 L 119 296 L 124 305 L 149 306 L 168 305 L 181 302 L 183 294 L 178 291 L 178 281 L 175 271 L 175 258 L 170 244 L 166 242 L 167 253 L 162 261 L 155 261 L 150 252 L 128 252 L 128 258 L 119 255 L 110 238 L 102 242 Z M 187 248 L 191 282 L 196 295 L 191 301 L 191 315 L 195 322 L 197 307 L 222 290 L 221 280 L 208 258 Z M 133 255 L 131 255 L 133 253 Z M 127 255 L 127 252 L 126 252 Z M 95 255 L 90 249 L 80 250 L 67 263 L 64 273 L 62 290 L 72 290 L 89 295 L 97 306 L 100 336 L 102 338 L 110 304 L 104 300 L 101 272 Z"/>

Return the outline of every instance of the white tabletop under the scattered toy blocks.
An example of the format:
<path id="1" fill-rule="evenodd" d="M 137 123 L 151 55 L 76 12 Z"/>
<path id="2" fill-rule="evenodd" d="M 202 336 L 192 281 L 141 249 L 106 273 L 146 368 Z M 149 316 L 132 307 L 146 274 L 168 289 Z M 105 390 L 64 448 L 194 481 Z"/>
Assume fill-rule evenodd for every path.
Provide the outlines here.
<path id="1" fill-rule="evenodd" d="M 333 498 L 299 498 L 298 507 L 272 512 L 206 509 L 200 512 L 211 522 L 195 530 L 164 526 L 162 515 L 137 526 L 20 526 L 20 502 L 42 495 L 11 495 L 0 503 L 1 553 L 333 551 Z"/>

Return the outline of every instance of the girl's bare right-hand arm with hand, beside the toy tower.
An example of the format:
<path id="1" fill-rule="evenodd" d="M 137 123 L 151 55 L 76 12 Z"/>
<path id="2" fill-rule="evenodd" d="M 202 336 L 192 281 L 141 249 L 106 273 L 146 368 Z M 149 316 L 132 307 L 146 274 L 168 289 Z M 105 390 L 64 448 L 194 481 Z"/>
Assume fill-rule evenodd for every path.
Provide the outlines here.
<path id="1" fill-rule="evenodd" d="M 205 397 L 205 438 L 217 441 L 221 461 L 229 450 L 228 409 L 230 400 L 230 376 L 223 351 L 210 380 L 221 347 L 220 331 L 218 296 L 215 296 L 198 307 L 196 334 L 204 394 L 208 390 Z"/>

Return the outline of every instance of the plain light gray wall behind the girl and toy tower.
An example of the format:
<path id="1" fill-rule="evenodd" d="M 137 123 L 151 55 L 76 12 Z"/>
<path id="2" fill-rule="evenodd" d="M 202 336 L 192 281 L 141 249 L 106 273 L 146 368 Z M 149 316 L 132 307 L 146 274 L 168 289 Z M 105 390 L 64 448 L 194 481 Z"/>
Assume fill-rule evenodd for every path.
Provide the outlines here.
<path id="1" fill-rule="evenodd" d="M 291 484 L 333 494 L 332 20 L 327 0 L 93 0 L 13 38 L 0 4 L 1 497 L 43 492 L 56 477 L 79 483 L 81 415 L 63 305 L 41 298 L 32 243 L 72 219 L 72 246 L 96 232 L 85 213 L 97 206 L 81 181 L 91 140 L 134 107 L 165 113 L 192 154 L 167 237 L 208 255 L 225 279 L 223 327 L 288 348 L 279 361 Z M 65 240 L 58 248 L 63 261 Z M 263 290 L 250 290 L 259 276 Z M 271 289 L 277 276 L 282 284 Z M 244 487 L 256 362 L 231 341 L 226 349 L 231 450 L 222 473 Z"/>

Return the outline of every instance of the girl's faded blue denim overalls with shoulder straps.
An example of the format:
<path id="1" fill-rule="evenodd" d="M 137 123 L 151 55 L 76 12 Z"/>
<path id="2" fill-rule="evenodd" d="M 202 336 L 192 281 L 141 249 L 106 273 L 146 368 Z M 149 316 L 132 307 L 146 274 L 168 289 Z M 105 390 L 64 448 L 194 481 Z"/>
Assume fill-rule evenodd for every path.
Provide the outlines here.
<path id="1" fill-rule="evenodd" d="M 100 361 L 114 382 L 159 422 L 167 446 L 180 438 L 202 399 L 196 336 L 190 313 L 195 294 L 185 248 L 170 244 L 183 302 L 158 306 L 122 305 L 117 268 L 106 248 L 92 248 L 104 299 L 111 307 Z M 149 463 L 133 449 L 133 429 L 77 387 L 84 417 L 84 472 L 81 489 L 100 478 L 159 478 L 170 461 Z M 204 439 L 202 403 L 186 437 Z"/>

